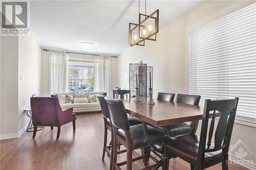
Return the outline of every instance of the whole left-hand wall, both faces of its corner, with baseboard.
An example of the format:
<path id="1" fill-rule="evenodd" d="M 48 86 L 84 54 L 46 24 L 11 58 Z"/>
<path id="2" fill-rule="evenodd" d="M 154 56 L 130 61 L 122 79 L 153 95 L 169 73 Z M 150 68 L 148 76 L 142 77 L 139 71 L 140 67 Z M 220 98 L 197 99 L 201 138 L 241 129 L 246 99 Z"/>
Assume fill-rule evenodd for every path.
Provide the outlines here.
<path id="1" fill-rule="evenodd" d="M 32 94 L 40 96 L 40 71 L 41 51 L 33 36 L 1 37 L 1 139 L 26 130 L 24 109 Z"/>

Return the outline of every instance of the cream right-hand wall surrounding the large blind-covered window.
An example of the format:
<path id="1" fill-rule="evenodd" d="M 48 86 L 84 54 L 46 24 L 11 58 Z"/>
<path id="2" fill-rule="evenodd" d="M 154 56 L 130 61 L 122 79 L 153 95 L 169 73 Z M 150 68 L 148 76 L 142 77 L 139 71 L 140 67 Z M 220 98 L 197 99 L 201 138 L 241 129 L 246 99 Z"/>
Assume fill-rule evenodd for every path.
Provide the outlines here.
<path id="1" fill-rule="evenodd" d="M 187 92 L 187 33 L 207 23 L 252 4 L 253 2 L 208 1 L 160 28 L 157 41 L 145 41 L 145 46 L 132 46 L 119 56 L 118 83 L 128 89 L 126 66 L 142 60 L 154 67 L 153 95 L 157 92 Z M 160 15 L 161 21 L 161 15 Z M 200 128 L 198 130 L 200 132 Z M 256 163 L 256 129 L 235 124 L 231 144 L 241 139 L 253 154 L 245 157 Z M 256 168 L 256 166 L 255 166 Z"/>

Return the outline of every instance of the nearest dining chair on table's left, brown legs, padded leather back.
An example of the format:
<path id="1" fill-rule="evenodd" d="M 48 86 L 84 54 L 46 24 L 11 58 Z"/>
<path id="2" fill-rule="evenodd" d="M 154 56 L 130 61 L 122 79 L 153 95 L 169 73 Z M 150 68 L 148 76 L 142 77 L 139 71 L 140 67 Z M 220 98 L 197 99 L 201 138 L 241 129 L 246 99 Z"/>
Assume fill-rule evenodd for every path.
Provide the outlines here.
<path id="1" fill-rule="evenodd" d="M 105 97 L 105 101 L 108 105 L 111 123 L 114 132 L 114 156 L 113 156 L 113 169 L 120 169 L 120 166 L 126 164 L 126 169 L 132 169 L 132 162 L 143 159 L 143 163 L 147 166 L 147 162 L 150 158 L 157 162 L 157 160 L 151 155 L 143 153 L 142 156 L 133 158 L 132 151 L 136 149 L 150 150 L 146 137 L 143 133 L 143 125 L 130 126 L 127 113 L 123 102 L 121 100 L 115 100 Z M 147 132 L 154 144 L 161 143 L 167 138 L 167 135 L 154 127 L 147 126 Z M 117 163 L 117 144 L 118 141 L 126 148 L 126 161 Z"/>

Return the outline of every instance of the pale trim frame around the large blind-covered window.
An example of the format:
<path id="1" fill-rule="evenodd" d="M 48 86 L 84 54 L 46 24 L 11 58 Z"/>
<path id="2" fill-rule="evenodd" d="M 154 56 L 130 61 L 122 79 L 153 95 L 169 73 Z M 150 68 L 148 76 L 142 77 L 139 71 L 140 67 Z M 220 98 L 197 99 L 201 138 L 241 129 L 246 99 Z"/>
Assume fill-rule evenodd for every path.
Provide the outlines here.
<path id="1" fill-rule="evenodd" d="M 238 10 L 241 10 L 243 8 L 246 8 L 247 6 L 250 6 L 254 4 L 255 2 L 237 2 L 234 3 L 233 5 L 224 8 L 210 16 L 207 16 L 191 25 L 185 28 L 185 87 L 186 87 L 186 93 L 188 93 L 188 38 L 189 38 L 189 33 L 197 30 L 200 27 L 203 27 L 211 22 L 214 22 L 218 19 L 221 19 L 222 17 L 225 17 L 226 15 L 229 15 L 233 12 L 236 12 Z M 249 127 L 254 127 L 256 128 L 256 119 L 249 118 L 247 116 L 242 116 L 242 115 L 237 115 L 235 119 L 236 124 L 241 124 Z"/>

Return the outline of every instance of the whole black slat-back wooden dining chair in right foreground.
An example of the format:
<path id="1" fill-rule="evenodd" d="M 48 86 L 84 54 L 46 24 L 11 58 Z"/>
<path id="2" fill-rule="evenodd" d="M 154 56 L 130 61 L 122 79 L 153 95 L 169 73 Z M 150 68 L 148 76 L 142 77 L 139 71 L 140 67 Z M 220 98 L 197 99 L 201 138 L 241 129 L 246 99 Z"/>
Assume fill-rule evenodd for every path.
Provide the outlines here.
<path id="1" fill-rule="evenodd" d="M 166 139 L 163 142 L 163 169 L 168 169 L 168 156 L 173 155 L 190 163 L 191 170 L 205 169 L 220 162 L 222 169 L 228 169 L 228 148 L 238 101 L 239 98 L 213 101 L 206 99 L 200 136 L 190 133 Z M 215 128 L 215 118 L 218 115 L 220 117 Z M 208 130 L 209 118 L 211 122 Z M 213 135 L 214 143 L 211 142 Z"/>

